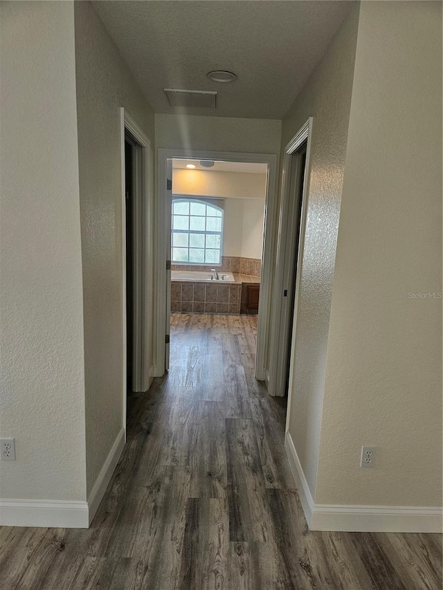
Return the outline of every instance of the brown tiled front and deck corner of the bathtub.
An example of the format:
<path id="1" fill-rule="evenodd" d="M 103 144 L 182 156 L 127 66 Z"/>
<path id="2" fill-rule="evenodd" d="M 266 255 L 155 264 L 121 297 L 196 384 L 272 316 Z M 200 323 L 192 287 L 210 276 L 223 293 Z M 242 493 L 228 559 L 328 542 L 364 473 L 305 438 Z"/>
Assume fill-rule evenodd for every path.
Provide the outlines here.
<path id="1" fill-rule="evenodd" d="M 172 313 L 240 313 L 242 283 L 260 283 L 259 277 L 234 275 L 235 284 L 172 281 Z"/>

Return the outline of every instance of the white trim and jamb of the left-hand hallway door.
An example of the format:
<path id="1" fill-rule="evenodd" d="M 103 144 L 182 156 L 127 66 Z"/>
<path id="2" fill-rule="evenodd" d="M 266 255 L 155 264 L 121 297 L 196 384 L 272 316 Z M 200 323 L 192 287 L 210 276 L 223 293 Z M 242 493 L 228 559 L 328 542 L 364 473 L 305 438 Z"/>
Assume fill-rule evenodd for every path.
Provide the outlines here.
<path id="1" fill-rule="evenodd" d="M 136 224 L 136 273 L 135 273 L 135 310 L 138 322 L 134 324 L 134 347 L 136 382 L 138 391 L 146 391 L 150 385 L 150 366 L 147 351 L 150 349 L 150 322 L 148 320 L 149 306 L 147 285 L 147 261 L 150 260 L 150 240 L 147 232 L 152 225 L 150 219 L 151 203 L 151 143 L 136 121 L 120 107 L 120 145 L 121 145 L 121 190 L 122 190 L 122 332 L 123 332 L 123 426 L 126 428 L 126 396 L 127 396 L 127 350 L 126 350 L 126 187 L 125 187 L 125 129 L 131 133 L 142 148 L 141 186 L 136 187 L 135 207 L 140 223 Z"/>

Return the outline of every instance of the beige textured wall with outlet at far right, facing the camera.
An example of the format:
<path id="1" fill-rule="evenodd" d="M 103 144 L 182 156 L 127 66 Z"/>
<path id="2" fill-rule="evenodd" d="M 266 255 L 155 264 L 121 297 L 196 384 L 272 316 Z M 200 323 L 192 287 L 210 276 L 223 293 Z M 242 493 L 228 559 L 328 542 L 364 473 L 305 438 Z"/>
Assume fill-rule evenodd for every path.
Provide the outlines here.
<path id="1" fill-rule="evenodd" d="M 442 505 L 440 291 L 442 4 L 363 2 L 316 502 Z"/>

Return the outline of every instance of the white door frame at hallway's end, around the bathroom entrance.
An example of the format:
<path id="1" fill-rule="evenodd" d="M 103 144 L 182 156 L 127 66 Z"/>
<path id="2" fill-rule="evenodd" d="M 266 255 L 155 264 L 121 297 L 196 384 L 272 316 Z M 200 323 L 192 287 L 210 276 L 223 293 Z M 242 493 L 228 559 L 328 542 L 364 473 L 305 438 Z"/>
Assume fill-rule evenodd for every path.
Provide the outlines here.
<path id="1" fill-rule="evenodd" d="M 276 209 L 276 154 L 248 154 L 231 151 L 209 151 L 192 149 L 159 148 L 158 178 L 156 192 L 156 361 L 155 376 L 165 372 L 165 324 L 167 321 L 167 270 L 166 261 L 170 259 L 165 228 L 168 216 L 168 192 L 166 185 L 167 160 L 186 158 L 193 160 L 224 160 L 226 162 L 262 163 L 268 165 L 266 181 L 266 203 L 264 209 L 264 239 L 262 247 L 262 277 L 260 281 L 260 302 L 258 306 L 257 355 L 255 357 L 255 378 L 264 380 L 269 334 L 269 303 L 271 300 L 271 276 L 273 255 L 273 228 Z"/>

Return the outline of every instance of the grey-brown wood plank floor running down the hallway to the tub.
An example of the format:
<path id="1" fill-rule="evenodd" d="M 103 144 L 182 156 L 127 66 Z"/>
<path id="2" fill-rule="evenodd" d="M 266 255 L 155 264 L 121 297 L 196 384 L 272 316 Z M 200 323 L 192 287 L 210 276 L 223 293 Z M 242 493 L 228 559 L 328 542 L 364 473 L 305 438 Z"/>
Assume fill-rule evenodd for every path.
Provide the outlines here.
<path id="1" fill-rule="evenodd" d="M 442 536 L 309 532 L 256 317 L 174 315 L 89 530 L 0 529 L 4 590 L 437 590 Z"/>

